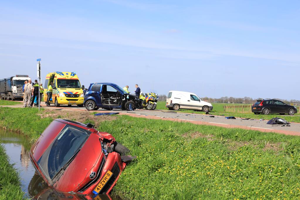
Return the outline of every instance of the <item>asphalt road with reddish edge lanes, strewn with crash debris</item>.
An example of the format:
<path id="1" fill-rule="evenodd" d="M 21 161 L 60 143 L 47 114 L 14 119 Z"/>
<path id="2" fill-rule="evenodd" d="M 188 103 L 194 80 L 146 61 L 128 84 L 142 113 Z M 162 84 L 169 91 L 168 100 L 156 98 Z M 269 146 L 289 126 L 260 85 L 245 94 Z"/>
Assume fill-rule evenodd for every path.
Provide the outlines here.
<path id="1" fill-rule="evenodd" d="M 76 109 L 87 111 L 85 107 L 72 106 L 68 107 L 67 105 L 62 105 L 60 107 L 46 107 L 44 102 L 41 104 L 43 108 L 46 109 Z M 14 106 L 5 106 L 5 107 L 22 107 L 22 105 Z M 203 115 L 203 114 L 192 114 L 192 113 L 176 113 L 175 111 L 168 110 L 113 110 L 108 111 L 104 109 L 96 110 L 97 112 L 119 112 L 121 114 L 126 114 L 134 117 L 144 117 L 151 119 L 163 119 L 179 122 L 191 122 L 194 124 L 205 124 L 205 125 L 214 125 L 221 126 L 225 128 L 243 128 L 248 130 L 258 130 L 262 132 L 277 132 L 283 134 L 299 135 L 300 136 L 300 123 L 291 122 L 290 126 L 281 126 L 281 125 L 268 125 L 268 120 L 258 120 L 258 119 L 226 119 L 225 116 L 214 116 L 213 115 Z M 284 118 L 284 116 L 283 116 Z"/>

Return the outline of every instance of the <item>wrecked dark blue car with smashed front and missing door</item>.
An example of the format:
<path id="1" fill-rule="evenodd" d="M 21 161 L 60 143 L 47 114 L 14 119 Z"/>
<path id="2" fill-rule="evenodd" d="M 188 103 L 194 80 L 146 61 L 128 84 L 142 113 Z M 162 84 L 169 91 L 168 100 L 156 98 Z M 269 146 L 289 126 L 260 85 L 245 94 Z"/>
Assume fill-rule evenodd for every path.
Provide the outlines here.
<path id="1" fill-rule="evenodd" d="M 85 93 L 83 105 L 87 110 L 122 109 L 134 110 L 139 104 L 137 96 L 128 94 L 120 86 L 114 83 L 91 83 Z"/>

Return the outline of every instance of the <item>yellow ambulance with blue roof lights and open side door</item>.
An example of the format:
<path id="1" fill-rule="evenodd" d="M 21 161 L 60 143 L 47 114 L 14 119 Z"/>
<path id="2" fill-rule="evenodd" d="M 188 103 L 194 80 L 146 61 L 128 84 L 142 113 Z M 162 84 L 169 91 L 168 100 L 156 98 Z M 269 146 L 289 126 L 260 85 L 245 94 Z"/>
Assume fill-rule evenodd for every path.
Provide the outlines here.
<path id="1" fill-rule="evenodd" d="M 44 101 L 47 101 L 48 94 L 47 89 L 49 85 L 52 85 L 52 96 L 50 96 L 50 103 L 54 103 L 55 107 L 59 107 L 61 104 L 67 104 L 68 106 L 78 105 L 83 107 L 83 89 L 81 87 L 78 76 L 75 72 L 52 72 L 46 75 L 46 81 L 44 85 Z"/>

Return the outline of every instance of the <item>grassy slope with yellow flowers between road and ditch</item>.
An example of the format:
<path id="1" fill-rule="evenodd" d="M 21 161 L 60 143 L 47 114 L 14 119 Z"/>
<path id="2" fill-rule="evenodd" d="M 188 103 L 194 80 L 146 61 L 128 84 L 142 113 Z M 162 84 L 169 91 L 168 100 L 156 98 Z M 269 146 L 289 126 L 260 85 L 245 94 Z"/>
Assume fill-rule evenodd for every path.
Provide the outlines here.
<path id="1" fill-rule="evenodd" d="M 0 108 L 0 126 L 35 140 L 51 122 L 38 122 L 37 112 Z M 18 122 L 24 115 L 30 117 Z M 63 113 L 60 117 L 72 119 Z M 98 130 L 113 134 L 138 156 L 113 190 L 124 199 L 300 196 L 300 137 L 130 116 L 112 119 L 99 122 Z"/>

